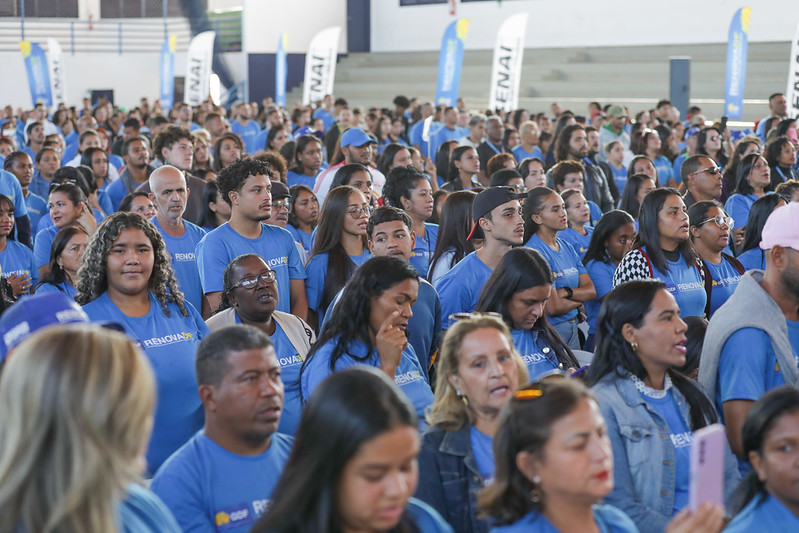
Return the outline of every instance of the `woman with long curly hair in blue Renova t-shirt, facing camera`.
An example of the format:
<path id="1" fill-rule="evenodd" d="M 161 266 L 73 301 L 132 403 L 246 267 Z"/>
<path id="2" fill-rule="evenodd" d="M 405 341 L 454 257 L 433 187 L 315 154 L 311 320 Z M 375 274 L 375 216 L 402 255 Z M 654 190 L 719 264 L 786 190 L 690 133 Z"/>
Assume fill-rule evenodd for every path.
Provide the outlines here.
<path id="1" fill-rule="evenodd" d="M 202 427 L 194 355 L 208 327 L 184 300 L 161 234 L 136 213 L 103 221 L 89 240 L 77 289 L 75 301 L 89 318 L 121 324 L 153 365 L 158 405 L 147 450 L 152 475 Z"/>

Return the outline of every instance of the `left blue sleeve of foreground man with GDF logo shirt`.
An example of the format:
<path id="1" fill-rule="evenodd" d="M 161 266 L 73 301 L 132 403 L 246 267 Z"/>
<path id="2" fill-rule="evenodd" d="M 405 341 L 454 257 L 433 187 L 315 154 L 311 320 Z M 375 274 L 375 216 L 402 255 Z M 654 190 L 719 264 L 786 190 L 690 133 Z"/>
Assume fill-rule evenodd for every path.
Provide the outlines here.
<path id="1" fill-rule="evenodd" d="M 203 504 L 204 481 L 196 465 L 175 459 L 180 457 L 173 457 L 156 473 L 152 491 L 172 511 L 182 531 L 216 533 L 213 518 L 206 514 Z"/>

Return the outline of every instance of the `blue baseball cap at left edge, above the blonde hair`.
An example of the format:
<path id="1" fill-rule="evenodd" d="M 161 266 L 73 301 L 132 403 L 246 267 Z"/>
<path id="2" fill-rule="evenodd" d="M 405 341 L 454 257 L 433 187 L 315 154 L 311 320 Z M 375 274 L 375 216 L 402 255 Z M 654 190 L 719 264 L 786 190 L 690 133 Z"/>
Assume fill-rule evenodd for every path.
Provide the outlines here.
<path id="1" fill-rule="evenodd" d="M 66 295 L 50 292 L 26 296 L 0 317 L 0 360 L 35 331 L 73 322 L 89 322 L 89 316 Z"/>

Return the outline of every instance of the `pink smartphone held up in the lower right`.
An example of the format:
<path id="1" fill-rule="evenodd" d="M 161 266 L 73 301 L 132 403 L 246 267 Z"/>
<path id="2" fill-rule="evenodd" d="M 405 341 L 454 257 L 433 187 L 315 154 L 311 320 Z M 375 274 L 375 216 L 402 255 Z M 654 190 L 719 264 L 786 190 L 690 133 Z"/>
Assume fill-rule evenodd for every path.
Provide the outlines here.
<path id="1" fill-rule="evenodd" d="M 724 426 L 712 424 L 694 432 L 688 506 L 695 512 L 705 502 L 724 505 Z"/>

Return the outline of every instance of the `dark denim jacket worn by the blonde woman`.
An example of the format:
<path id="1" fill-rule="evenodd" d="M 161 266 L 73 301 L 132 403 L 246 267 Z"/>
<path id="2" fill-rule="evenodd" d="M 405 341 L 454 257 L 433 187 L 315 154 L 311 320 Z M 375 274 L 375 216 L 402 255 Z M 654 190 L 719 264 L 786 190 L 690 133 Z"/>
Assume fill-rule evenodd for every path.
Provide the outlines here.
<path id="1" fill-rule="evenodd" d="M 446 431 L 431 426 L 422 437 L 416 497 L 432 506 L 458 533 L 488 533 L 477 518 L 477 492 L 483 476 L 472 453 L 471 426 Z"/>

